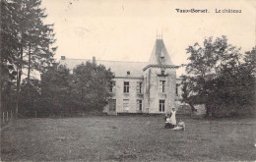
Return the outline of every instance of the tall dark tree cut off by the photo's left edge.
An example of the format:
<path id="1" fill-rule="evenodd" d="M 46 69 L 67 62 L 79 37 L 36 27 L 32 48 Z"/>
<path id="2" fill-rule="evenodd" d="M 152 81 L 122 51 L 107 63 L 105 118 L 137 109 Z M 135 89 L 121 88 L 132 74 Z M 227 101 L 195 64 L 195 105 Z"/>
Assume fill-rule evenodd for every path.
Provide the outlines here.
<path id="1" fill-rule="evenodd" d="M 6 0 L 1 1 L 1 107 L 8 109 L 13 107 L 10 103 L 16 100 L 15 97 L 15 79 L 17 71 L 15 63 L 17 63 L 17 54 L 19 52 L 16 24 L 12 19 L 14 11 L 13 4 Z"/>

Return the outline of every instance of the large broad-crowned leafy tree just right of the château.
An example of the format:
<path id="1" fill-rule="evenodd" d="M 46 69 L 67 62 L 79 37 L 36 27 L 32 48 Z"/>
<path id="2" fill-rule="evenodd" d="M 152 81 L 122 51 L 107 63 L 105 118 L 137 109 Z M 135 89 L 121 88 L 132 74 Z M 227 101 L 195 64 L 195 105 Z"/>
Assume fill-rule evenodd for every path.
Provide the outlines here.
<path id="1" fill-rule="evenodd" d="M 212 37 L 204 40 L 203 46 L 195 43 L 189 46 L 190 63 L 186 67 L 188 75 L 183 82 L 192 91 L 188 97 L 194 103 L 204 103 L 207 116 L 214 115 L 218 111 L 237 107 L 241 95 L 241 79 L 237 77 L 240 69 L 240 48 L 227 43 L 225 36 Z"/>

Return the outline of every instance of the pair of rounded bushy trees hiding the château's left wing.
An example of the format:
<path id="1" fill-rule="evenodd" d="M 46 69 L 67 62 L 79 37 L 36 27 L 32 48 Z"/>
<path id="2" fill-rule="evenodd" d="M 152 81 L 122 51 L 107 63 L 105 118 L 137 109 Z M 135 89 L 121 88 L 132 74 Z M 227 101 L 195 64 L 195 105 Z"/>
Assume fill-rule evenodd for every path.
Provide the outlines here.
<path id="1" fill-rule="evenodd" d="M 110 97 L 113 74 L 102 65 L 78 65 L 71 74 L 63 65 L 54 65 L 41 75 L 41 105 L 51 115 L 60 112 L 99 111 Z"/>

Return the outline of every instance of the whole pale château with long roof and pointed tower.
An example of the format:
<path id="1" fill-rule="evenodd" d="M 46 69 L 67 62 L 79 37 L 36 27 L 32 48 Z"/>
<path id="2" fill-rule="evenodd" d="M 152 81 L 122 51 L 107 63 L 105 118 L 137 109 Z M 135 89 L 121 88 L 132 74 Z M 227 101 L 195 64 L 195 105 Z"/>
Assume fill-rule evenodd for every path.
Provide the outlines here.
<path id="1" fill-rule="evenodd" d="M 162 39 L 157 39 L 149 62 L 115 62 L 96 60 L 115 74 L 112 81 L 112 98 L 103 112 L 164 114 L 177 107 L 180 80 Z M 73 69 L 88 60 L 67 59 L 60 63 Z M 178 92 L 178 93 L 177 93 Z"/>

